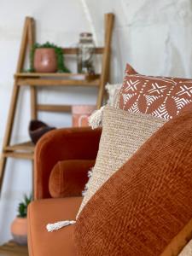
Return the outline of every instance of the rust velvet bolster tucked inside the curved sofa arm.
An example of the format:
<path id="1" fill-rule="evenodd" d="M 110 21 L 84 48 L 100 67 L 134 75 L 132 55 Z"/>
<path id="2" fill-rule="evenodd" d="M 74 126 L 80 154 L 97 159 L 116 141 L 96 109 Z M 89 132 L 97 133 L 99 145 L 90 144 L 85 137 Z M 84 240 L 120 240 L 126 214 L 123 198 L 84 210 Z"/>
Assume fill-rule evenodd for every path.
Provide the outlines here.
<path id="1" fill-rule="evenodd" d="M 49 193 L 54 198 L 81 196 L 88 182 L 88 172 L 96 160 L 63 160 L 53 168 L 49 177 Z"/>

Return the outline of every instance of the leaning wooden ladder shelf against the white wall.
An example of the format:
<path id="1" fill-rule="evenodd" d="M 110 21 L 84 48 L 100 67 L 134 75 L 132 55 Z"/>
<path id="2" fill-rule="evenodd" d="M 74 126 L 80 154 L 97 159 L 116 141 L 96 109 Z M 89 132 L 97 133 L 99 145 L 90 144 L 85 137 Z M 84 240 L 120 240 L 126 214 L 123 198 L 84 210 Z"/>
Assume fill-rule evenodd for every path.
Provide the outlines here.
<path id="1" fill-rule="evenodd" d="M 23 73 L 22 70 L 26 59 L 27 46 L 31 49 L 35 42 L 35 21 L 31 17 L 26 17 L 20 44 L 20 55 L 14 77 L 15 83 L 10 102 L 8 122 L 3 139 L 3 152 L 0 159 L 0 193 L 2 191 L 7 158 L 13 157 L 32 161 L 34 159 L 35 146 L 33 143 L 10 144 L 20 89 L 23 86 L 29 86 L 30 88 L 31 119 L 38 119 L 38 111 L 71 112 L 72 106 L 70 105 L 38 104 L 38 88 L 42 86 L 98 87 L 96 108 L 101 108 L 104 96 L 104 86 L 109 81 L 113 20 L 113 14 L 105 15 L 104 47 L 96 48 L 95 50 L 97 55 L 102 55 L 102 72 L 90 76 L 79 73 Z M 77 52 L 77 48 L 63 48 L 63 53 L 65 55 L 76 55 Z"/>

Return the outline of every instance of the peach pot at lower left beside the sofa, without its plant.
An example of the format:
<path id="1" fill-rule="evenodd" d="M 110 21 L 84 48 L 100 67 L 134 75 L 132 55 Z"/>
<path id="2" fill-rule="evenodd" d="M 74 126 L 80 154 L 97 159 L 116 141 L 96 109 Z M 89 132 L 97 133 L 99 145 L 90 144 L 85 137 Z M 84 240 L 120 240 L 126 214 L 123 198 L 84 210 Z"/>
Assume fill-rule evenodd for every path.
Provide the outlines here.
<path id="1" fill-rule="evenodd" d="M 14 241 L 20 245 L 27 244 L 27 224 L 26 218 L 15 218 L 11 224 L 11 234 L 14 237 Z"/>

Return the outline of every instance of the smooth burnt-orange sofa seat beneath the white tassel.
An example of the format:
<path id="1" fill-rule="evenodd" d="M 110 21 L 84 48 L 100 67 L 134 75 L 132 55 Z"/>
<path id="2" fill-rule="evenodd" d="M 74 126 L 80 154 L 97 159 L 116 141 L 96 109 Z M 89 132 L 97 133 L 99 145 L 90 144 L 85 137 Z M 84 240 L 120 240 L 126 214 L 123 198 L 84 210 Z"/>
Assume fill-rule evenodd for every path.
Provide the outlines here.
<path id="1" fill-rule="evenodd" d="M 73 225 L 48 232 L 46 224 L 62 219 L 74 219 L 81 197 L 33 201 L 28 207 L 28 248 L 30 256 L 76 256 Z"/>

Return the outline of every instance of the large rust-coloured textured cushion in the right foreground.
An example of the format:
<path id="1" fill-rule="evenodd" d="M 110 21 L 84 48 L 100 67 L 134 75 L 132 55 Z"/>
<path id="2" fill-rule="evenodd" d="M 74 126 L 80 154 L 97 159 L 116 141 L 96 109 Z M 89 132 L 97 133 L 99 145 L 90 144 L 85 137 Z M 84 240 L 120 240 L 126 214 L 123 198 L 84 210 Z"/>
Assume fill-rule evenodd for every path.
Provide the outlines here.
<path id="1" fill-rule="evenodd" d="M 79 256 L 176 256 L 192 236 L 192 113 L 156 131 L 80 213 Z"/>

